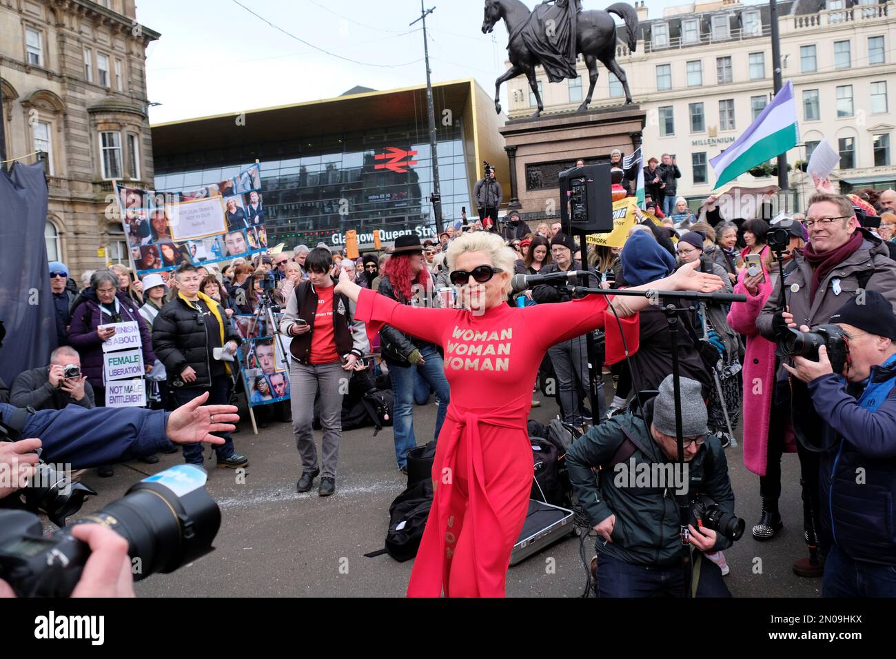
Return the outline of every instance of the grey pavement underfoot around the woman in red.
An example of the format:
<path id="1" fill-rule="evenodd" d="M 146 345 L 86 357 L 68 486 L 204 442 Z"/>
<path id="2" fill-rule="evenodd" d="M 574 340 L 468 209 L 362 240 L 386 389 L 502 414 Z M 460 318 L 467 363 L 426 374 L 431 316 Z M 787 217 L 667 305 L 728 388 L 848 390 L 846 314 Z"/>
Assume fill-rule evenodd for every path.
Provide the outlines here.
<path id="1" fill-rule="evenodd" d="M 418 444 L 433 436 L 435 404 L 415 408 Z M 530 418 L 546 423 L 556 415 L 556 404 L 543 400 Z M 245 416 L 245 415 L 244 415 Z M 372 428 L 343 433 L 337 492 L 317 496 L 316 486 L 297 494 L 299 459 L 291 427 L 273 422 L 257 436 L 245 422 L 234 435 L 237 451 L 249 456 L 245 483 L 233 470 L 217 469 L 206 450 L 208 490 L 221 509 L 215 551 L 169 575 L 156 575 L 136 584 L 140 596 L 363 596 L 399 597 L 405 593 L 412 561 L 398 563 L 388 555 L 373 559 L 369 551 L 383 547 L 389 505 L 404 488 L 406 477 L 396 468 L 392 429 L 377 437 Z M 739 433 L 738 433 L 739 434 Z M 315 431 L 320 446 L 320 432 Z M 759 479 L 748 472 L 741 448 L 727 450 L 728 468 L 737 496 L 736 512 L 745 518 L 744 537 L 726 551 L 732 594 L 741 597 L 814 597 L 821 579 L 796 577 L 795 559 L 806 555 L 802 537 L 797 455 L 783 459 L 781 515 L 784 529 L 771 542 L 755 542 L 750 527 L 759 518 Z M 88 499 L 82 515 L 120 498 L 144 474 L 181 464 L 178 454 L 159 455 L 159 464 L 139 462 L 116 466 L 116 475 L 100 479 L 95 470 L 82 481 L 100 492 Z M 586 555 L 594 553 L 586 541 Z M 507 594 L 513 597 L 576 597 L 582 594 L 585 573 L 579 556 L 580 540 L 569 536 L 510 568 Z"/>

